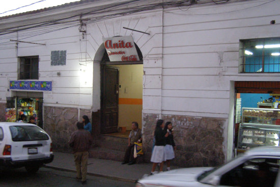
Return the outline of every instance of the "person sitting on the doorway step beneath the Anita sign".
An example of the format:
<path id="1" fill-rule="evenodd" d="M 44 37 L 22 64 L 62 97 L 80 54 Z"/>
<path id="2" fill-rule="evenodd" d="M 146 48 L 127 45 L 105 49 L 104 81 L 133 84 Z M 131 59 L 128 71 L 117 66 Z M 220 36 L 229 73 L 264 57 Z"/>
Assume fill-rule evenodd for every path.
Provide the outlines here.
<path id="1" fill-rule="evenodd" d="M 134 158 L 134 142 L 141 142 L 142 141 L 142 131 L 138 128 L 137 122 L 132 122 L 131 124 L 132 130 L 130 131 L 129 137 L 128 137 L 128 147 L 126 148 L 125 155 L 124 155 L 124 161 L 122 164 L 132 165 L 135 164 L 135 158 Z"/>

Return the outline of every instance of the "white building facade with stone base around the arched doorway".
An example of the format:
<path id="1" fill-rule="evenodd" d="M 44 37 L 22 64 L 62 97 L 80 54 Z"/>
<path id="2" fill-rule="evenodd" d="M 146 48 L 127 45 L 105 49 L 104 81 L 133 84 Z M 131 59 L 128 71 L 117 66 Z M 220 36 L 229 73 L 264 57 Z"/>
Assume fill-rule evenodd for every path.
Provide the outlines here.
<path id="1" fill-rule="evenodd" d="M 98 135 L 103 125 L 103 38 L 132 36 L 143 56 L 143 69 L 137 66 L 143 73 L 142 98 L 130 99 L 143 99 L 139 105 L 146 160 L 157 119 L 174 125 L 177 165 L 215 166 L 231 159 L 235 82 L 277 82 L 280 75 L 240 72 L 240 40 L 280 37 L 280 2 L 196 2 L 160 8 L 162 1 L 93 1 L 1 18 L 1 120 L 7 97 L 40 92 L 43 127 L 55 148 L 69 149 L 67 141 L 82 115 L 92 118 L 93 134 Z M 146 4 L 155 9 L 128 12 Z M 121 14 L 122 8 L 127 12 Z M 66 51 L 65 65 L 52 64 L 51 51 Z M 33 56 L 39 57 L 39 76 L 27 81 L 51 82 L 51 91 L 10 89 L 11 81 L 24 81 L 19 77 L 20 57 Z M 133 90 L 120 88 L 122 93 Z"/>

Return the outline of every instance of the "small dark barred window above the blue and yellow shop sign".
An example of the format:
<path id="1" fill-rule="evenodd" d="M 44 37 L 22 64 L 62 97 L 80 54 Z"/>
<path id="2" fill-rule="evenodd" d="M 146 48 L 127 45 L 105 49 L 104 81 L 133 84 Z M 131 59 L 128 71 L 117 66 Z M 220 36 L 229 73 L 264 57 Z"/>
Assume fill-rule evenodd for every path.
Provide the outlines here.
<path id="1" fill-rule="evenodd" d="M 39 57 L 19 57 L 19 79 L 39 79 Z"/>

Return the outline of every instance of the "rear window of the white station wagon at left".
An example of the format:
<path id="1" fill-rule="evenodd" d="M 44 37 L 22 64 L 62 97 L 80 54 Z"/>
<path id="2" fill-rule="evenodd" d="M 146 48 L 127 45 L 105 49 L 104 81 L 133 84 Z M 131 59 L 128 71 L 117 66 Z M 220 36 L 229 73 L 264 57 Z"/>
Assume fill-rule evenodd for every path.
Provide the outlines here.
<path id="1" fill-rule="evenodd" d="M 48 135 L 37 126 L 15 125 L 10 126 L 14 142 L 48 140 Z"/>

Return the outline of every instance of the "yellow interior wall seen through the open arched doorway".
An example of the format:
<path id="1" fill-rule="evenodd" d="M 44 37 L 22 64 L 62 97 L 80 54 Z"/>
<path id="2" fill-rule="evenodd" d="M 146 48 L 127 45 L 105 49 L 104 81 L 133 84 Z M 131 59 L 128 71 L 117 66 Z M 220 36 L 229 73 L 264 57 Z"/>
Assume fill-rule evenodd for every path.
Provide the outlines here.
<path id="1" fill-rule="evenodd" d="M 120 68 L 119 98 L 142 99 L 143 64 L 116 65 Z M 142 128 L 142 104 L 119 104 L 119 126 L 131 130 L 131 122 L 136 121 Z"/>

